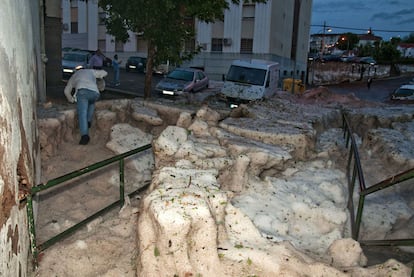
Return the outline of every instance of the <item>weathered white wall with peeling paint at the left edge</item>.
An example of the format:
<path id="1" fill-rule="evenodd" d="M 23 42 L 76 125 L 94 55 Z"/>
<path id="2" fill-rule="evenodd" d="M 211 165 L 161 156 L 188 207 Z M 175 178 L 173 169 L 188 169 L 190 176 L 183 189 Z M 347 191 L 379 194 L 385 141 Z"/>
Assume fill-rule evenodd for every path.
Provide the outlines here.
<path id="1" fill-rule="evenodd" d="M 0 9 L 0 275 L 27 276 L 29 236 L 19 192 L 38 182 L 39 1 Z"/>

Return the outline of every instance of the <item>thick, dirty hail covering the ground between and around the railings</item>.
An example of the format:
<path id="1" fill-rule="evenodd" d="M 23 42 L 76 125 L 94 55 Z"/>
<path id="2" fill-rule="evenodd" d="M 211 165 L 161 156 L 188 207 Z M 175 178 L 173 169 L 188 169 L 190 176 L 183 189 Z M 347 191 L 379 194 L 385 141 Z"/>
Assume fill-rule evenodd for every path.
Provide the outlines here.
<path id="1" fill-rule="evenodd" d="M 52 103 L 39 113 L 43 181 L 151 143 L 125 170 L 127 192 L 150 186 L 44 250 L 35 274 L 410 276 L 412 247 L 378 262 L 350 238 L 344 111 L 367 187 L 414 167 L 414 106 L 323 88 L 233 110 L 101 101 L 87 146 L 78 145 L 74 106 Z M 413 186 L 367 197 L 360 238 L 413 238 Z M 118 164 L 42 193 L 39 243 L 118 197 Z"/>

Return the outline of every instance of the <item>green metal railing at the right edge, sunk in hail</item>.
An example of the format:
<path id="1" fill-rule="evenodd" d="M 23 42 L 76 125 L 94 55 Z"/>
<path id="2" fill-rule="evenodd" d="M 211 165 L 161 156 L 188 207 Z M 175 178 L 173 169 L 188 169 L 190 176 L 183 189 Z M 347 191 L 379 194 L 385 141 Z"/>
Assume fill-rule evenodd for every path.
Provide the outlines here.
<path id="1" fill-rule="evenodd" d="M 348 118 L 345 112 L 342 112 L 342 128 L 344 130 L 344 138 L 346 140 L 346 147 L 349 147 L 349 155 L 346 167 L 346 175 L 348 179 L 348 210 L 351 217 L 351 230 L 352 238 L 359 241 L 361 245 L 367 246 L 414 246 L 414 238 L 409 239 L 393 239 L 393 240 L 359 240 L 359 231 L 362 221 L 362 212 L 364 209 L 365 197 L 369 194 L 383 190 L 385 188 L 394 186 L 403 181 L 414 178 L 414 168 L 409 169 L 405 172 L 399 173 L 398 175 L 392 176 L 378 184 L 370 187 L 366 187 L 364 174 L 362 172 L 361 161 L 358 154 L 358 148 L 349 124 Z M 359 201 L 358 209 L 355 216 L 355 208 L 353 195 L 355 191 L 355 183 L 358 180 L 359 183 Z"/>

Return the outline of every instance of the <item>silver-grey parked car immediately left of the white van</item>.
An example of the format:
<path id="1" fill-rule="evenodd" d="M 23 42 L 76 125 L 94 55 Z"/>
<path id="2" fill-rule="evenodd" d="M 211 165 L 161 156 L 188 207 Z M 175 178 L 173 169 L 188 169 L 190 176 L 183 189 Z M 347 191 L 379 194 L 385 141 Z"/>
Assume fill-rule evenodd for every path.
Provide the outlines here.
<path id="1" fill-rule="evenodd" d="M 209 78 L 200 69 L 176 68 L 155 89 L 163 95 L 182 95 L 208 88 Z"/>

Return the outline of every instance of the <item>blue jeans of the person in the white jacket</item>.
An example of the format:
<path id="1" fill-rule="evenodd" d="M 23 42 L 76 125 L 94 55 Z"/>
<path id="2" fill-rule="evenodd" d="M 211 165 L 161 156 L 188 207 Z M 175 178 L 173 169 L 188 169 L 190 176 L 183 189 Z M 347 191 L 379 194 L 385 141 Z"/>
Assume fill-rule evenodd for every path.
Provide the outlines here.
<path id="1" fill-rule="evenodd" d="M 89 134 L 88 122 L 92 122 L 95 112 L 95 102 L 99 98 L 99 93 L 90 89 L 78 89 L 76 94 L 79 129 L 81 136 Z"/>

